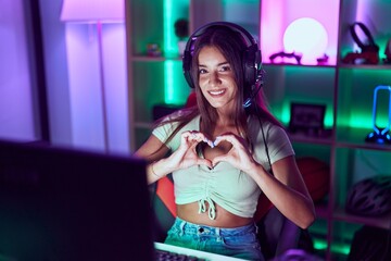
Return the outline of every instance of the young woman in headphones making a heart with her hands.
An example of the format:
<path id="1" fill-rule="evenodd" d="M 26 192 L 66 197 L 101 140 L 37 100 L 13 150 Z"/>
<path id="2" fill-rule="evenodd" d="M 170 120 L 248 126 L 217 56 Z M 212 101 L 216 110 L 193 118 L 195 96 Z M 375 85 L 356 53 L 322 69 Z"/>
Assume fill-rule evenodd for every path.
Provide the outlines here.
<path id="1" fill-rule="evenodd" d="M 197 107 L 160 121 L 136 154 L 150 162 L 150 184 L 173 173 L 177 219 L 166 244 L 264 260 L 253 220 L 261 192 L 302 228 L 315 211 L 292 146 L 266 109 L 250 37 L 226 22 L 190 37 L 184 70 Z"/>

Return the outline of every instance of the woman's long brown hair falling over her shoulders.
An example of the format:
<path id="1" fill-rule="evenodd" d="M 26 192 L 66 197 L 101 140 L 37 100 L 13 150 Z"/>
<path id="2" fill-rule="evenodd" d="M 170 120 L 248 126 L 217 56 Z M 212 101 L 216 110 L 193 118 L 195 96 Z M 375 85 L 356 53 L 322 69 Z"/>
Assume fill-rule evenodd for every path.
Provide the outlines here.
<path id="1" fill-rule="evenodd" d="M 245 40 L 239 32 L 232 30 L 228 26 L 214 25 L 206 28 L 205 32 L 197 38 L 193 45 L 190 74 L 197 95 L 197 107 L 182 109 L 182 113 L 180 113 L 179 116 L 157 122 L 157 125 L 169 122 L 178 122 L 176 129 L 168 137 L 166 142 L 168 142 L 173 136 L 179 132 L 180 128 L 182 128 L 197 115 L 201 116 L 201 132 L 212 137 L 212 134 L 215 129 L 218 117 L 217 111 L 207 102 L 205 97 L 202 95 L 201 88 L 199 87 L 198 58 L 200 51 L 204 47 L 214 47 L 219 50 L 231 66 L 236 86 L 238 88 L 235 110 L 231 116 L 234 119 L 237 132 L 243 135 L 243 138 L 248 141 L 248 144 L 250 145 L 247 120 L 250 114 L 256 114 L 263 120 L 268 120 L 274 124 L 280 125 L 278 120 L 275 119 L 272 113 L 269 113 L 262 89 L 254 98 L 251 107 L 247 109 L 243 108 L 243 101 L 247 99 L 245 95 L 249 92 L 248 89 L 251 88 L 251 86 L 247 86 L 245 84 L 243 72 L 243 52 L 247 49 Z"/>

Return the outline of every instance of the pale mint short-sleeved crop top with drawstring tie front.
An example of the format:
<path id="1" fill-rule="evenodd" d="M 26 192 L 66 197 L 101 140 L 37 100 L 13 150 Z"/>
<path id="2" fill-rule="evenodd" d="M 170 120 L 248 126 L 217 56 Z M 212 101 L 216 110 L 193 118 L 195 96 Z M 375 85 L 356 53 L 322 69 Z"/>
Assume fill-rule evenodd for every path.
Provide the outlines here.
<path id="1" fill-rule="evenodd" d="M 269 171 L 258 120 L 251 116 L 248 121 L 249 137 L 254 145 L 254 159 Z M 164 142 L 176 126 L 177 123 L 165 124 L 155 128 L 152 134 Z M 291 142 L 281 127 L 269 122 L 264 122 L 263 127 L 272 164 L 294 154 Z M 172 151 L 179 147 L 180 134 L 186 130 L 200 130 L 200 116 L 190 121 L 167 144 Z M 255 142 L 254 139 L 256 139 Z M 228 162 L 219 162 L 213 170 L 205 165 L 197 165 L 175 171 L 173 179 L 175 202 L 186 204 L 198 201 L 200 212 L 207 211 L 212 220 L 216 216 L 215 202 L 236 215 L 252 217 L 261 195 L 257 184 L 248 174 L 235 169 Z M 209 209 L 205 208 L 205 202 L 209 202 Z"/>

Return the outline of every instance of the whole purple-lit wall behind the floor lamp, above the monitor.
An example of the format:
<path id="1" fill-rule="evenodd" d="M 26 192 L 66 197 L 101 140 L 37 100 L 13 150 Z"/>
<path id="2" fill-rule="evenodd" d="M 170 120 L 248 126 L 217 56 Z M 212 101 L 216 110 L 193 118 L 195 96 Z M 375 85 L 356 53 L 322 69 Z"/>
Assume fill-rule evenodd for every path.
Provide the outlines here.
<path id="1" fill-rule="evenodd" d="M 109 146 L 104 145 L 97 26 L 60 21 L 62 0 L 39 4 L 50 140 L 106 152 L 129 152 L 125 22 L 104 24 L 103 67 Z M 0 138 L 40 139 L 31 2 L 0 2 Z M 76 38 L 75 38 L 76 37 Z M 77 51 L 78 50 L 78 51 Z M 39 102 L 42 102 L 41 100 Z M 7 112 L 7 113 L 4 113 Z"/>

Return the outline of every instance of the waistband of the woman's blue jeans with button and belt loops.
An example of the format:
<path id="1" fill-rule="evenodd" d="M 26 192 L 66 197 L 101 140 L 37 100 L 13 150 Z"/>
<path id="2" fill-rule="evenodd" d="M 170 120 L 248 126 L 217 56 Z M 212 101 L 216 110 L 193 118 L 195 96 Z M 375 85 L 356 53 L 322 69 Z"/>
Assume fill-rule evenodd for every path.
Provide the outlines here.
<path id="1" fill-rule="evenodd" d="M 180 217 L 176 217 L 174 226 L 178 227 L 185 234 L 197 234 L 207 236 L 239 236 L 249 233 L 256 233 L 257 227 L 255 223 L 249 225 L 234 227 L 234 228 L 222 228 L 207 225 L 199 225 L 188 221 L 184 221 Z"/>

